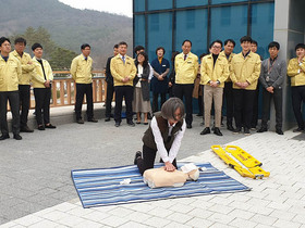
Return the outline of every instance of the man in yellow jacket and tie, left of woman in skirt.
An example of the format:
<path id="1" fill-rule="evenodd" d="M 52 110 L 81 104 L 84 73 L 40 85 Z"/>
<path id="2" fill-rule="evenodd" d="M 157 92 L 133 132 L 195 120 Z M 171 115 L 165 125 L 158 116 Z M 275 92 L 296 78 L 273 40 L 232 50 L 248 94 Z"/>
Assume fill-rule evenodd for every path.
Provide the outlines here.
<path id="1" fill-rule="evenodd" d="M 114 121 L 115 127 L 121 125 L 121 113 L 123 98 L 126 105 L 127 125 L 134 127 L 133 123 L 133 79 L 136 75 L 134 60 L 126 55 L 127 43 L 122 41 L 119 43 L 119 54 L 113 56 L 110 62 L 110 71 L 113 76 L 115 91 Z"/>

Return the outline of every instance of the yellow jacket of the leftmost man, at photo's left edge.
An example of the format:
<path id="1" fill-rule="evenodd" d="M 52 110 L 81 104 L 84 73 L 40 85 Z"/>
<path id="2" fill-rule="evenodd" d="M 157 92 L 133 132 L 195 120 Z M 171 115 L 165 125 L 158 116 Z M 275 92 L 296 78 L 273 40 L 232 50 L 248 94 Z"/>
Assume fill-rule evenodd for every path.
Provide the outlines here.
<path id="1" fill-rule="evenodd" d="M 8 62 L 0 56 L 0 91 L 17 91 L 19 80 L 22 75 L 20 61 L 12 54 L 9 54 Z"/>

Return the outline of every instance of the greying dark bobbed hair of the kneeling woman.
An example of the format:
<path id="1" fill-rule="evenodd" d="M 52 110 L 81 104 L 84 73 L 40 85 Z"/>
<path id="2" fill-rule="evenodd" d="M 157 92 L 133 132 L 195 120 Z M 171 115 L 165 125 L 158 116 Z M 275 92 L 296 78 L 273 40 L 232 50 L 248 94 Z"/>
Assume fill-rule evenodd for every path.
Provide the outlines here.
<path id="1" fill-rule="evenodd" d="M 161 107 L 161 115 L 166 119 L 180 121 L 174 115 L 175 111 L 180 109 L 180 119 L 184 116 L 184 104 L 180 98 L 170 98 Z"/>

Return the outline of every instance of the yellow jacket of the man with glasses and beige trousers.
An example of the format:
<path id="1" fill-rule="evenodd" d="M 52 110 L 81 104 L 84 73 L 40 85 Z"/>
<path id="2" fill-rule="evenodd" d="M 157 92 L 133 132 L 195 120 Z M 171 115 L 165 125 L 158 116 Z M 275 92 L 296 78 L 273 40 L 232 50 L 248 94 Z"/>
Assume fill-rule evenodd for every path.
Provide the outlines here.
<path id="1" fill-rule="evenodd" d="M 225 56 L 219 54 L 215 66 L 212 54 L 203 58 L 200 65 L 200 85 L 207 85 L 210 80 L 219 80 L 220 85 L 218 87 L 223 88 L 229 74 L 229 63 Z"/>

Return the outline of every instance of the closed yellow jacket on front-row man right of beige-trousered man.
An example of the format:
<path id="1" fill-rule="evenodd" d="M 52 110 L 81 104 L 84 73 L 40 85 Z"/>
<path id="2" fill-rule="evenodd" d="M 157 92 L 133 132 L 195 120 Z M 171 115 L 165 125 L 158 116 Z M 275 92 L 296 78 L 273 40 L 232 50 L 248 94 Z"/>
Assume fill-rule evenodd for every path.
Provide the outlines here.
<path id="1" fill-rule="evenodd" d="M 249 52 L 246 58 L 243 53 L 235 54 L 231 61 L 230 78 L 234 89 L 240 89 L 235 83 L 248 83 L 246 90 L 255 90 L 260 74 L 260 56 Z"/>

